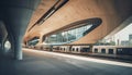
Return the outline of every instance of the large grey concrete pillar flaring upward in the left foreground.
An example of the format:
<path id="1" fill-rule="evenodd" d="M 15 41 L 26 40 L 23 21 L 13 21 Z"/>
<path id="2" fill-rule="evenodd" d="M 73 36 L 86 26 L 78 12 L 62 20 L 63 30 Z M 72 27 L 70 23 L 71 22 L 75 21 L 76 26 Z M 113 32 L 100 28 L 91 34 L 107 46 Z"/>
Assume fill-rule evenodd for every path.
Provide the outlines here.
<path id="1" fill-rule="evenodd" d="M 8 1 L 8 2 L 7 2 Z M 26 30 L 32 13 L 40 3 L 40 0 L 2 0 L 0 2 L 9 37 L 11 38 L 14 59 L 22 60 L 21 41 Z"/>

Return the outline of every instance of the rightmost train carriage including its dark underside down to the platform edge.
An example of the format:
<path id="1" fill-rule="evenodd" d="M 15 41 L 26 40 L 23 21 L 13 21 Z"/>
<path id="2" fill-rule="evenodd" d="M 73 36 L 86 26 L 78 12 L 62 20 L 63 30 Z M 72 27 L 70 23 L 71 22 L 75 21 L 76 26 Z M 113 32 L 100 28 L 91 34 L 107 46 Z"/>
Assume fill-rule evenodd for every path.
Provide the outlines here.
<path id="1" fill-rule="evenodd" d="M 92 55 L 132 61 L 132 47 L 94 46 Z"/>

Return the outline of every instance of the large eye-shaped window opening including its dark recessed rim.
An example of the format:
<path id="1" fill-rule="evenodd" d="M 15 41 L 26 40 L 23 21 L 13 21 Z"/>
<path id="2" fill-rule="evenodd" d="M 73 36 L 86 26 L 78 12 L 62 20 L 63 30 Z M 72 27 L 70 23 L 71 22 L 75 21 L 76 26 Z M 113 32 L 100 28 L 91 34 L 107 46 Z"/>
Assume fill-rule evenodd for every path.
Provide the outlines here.
<path id="1" fill-rule="evenodd" d="M 101 25 L 101 23 L 102 20 L 98 17 L 78 21 L 69 24 L 69 26 L 67 25 L 68 27 L 66 27 L 65 29 L 58 30 L 57 33 L 46 36 L 46 39 L 44 41 L 48 45 L 69 43 L 86 36 L 97 26 Z"/>

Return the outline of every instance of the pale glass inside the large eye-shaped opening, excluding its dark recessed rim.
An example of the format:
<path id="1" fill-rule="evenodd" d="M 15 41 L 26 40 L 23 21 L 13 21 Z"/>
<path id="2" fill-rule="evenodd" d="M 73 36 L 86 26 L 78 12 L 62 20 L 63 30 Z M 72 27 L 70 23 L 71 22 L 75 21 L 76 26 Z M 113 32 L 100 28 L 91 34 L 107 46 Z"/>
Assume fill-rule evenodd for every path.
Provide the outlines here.
<path id="1" fill-rule="evenodd" d="M 53 34 L 46 37 L 45 42 L 53 45 L 72 42 L 85 36 L 84 33 L 86 33 L 91 26 L 92 25 L 84 25 L 81 27 L 69 29 L 67 32 Z"/>

